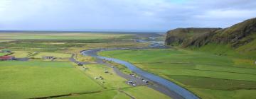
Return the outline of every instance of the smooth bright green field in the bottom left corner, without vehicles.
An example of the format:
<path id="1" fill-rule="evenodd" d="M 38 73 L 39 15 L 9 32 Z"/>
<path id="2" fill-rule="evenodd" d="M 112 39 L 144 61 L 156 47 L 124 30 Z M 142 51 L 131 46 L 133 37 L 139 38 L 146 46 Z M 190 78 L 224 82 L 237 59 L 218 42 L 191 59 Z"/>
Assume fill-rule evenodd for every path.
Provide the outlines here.
<path id="1" fill-rule="evenodd" d="M 69 62 L 0 62 L 0 98 L 38 98 L 102 90 Z"/>

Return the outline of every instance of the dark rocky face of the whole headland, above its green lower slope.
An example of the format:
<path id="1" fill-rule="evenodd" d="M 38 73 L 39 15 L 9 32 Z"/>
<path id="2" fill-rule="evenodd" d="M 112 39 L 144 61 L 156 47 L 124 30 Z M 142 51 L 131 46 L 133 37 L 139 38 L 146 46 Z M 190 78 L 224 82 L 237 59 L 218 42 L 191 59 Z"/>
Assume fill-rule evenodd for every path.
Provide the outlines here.
<path id="1" fill-rule="evenodd" d="M 230 28 L 177 28 L 166 34 L 166 45 L 201 47 L 210 42 L 240 47 L 255 40 L 256 18 L 249 19 Z"/>

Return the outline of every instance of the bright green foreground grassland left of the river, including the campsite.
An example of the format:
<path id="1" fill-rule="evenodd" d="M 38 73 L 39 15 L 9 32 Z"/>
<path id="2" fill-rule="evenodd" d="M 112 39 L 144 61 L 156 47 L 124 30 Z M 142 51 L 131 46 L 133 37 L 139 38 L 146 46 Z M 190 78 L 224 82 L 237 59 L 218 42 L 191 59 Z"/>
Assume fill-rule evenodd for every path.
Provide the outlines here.
<path id="1" fill-rule="evenodd" d="M 147 87 L 132 87 L 112 68 L 101 64 L 73 66 L 70 62 L 0 62 L 0 98 L 130 98 L 167 99 Z M 106 74 L 104 71 L 109 71 Z M 102 76 L 102 80 L 95 79 Z M 104 81 L 105 83 L 101 83 Z M 147 95 L 149 93 L 149 95 Z"/>

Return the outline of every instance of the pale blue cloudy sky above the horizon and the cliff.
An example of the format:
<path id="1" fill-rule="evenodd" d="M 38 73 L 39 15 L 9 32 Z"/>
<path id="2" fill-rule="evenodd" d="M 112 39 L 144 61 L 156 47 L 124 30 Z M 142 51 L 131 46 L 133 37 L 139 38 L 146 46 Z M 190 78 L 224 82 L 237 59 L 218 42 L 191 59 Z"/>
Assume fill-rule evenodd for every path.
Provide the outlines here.
<path id="1" fill-rule="evenodd" d="M 0 0 L 0 30 L 164 32 L 254 17 L 255 0 Z"/>

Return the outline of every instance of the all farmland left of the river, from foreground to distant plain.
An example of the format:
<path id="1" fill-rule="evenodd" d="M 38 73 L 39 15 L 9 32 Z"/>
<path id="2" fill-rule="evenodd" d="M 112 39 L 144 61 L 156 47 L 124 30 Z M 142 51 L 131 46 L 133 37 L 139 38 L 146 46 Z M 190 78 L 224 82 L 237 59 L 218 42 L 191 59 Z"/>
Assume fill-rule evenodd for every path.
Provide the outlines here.
<path id="1" fill-rule="evenodd" d="M 0 61 L 0 98 L 169 98 L 146 86 L 130 86 L 103 64 L 87 64 L 87 69 L 68 60 L 72 54 L 80 62 L 95 62 L 82 50 L 116 47 L 146 47 L 130 34 L 102 33 L 1 33 L 0 47 L 11 56 L 27 61 Z M 1 49 L 0 49 L 1 50 Z M 0 55 L 9 53 L 0 52 Z M 55 59 L 43 59 L 53 56 Z M 105 74 L 104 71 L 109 71 Z M 102 76 L 102 80 L 95 77 Z M 104 83 L 102 83 L 104 82 Z M 150 95 L 148 95 L 148 93 Z M 154 93 L 154 94 L 152 94 Z"/>

